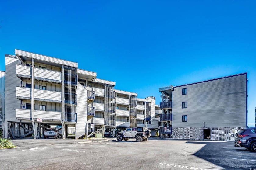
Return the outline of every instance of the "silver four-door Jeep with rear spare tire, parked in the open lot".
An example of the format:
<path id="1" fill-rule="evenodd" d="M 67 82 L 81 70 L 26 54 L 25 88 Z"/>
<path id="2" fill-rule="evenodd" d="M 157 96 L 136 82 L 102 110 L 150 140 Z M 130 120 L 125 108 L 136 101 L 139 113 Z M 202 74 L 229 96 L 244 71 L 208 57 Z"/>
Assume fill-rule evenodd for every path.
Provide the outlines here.
<path id="1" fill-rule="evenodd" d="M 151 136 L 151 130 L 147 127 L 127 127 L 124 132 L 119 132 L 116 139 L 118 141 L 128 141 L 128 139 L 136 139 L 137 142 L 146 142 Z"/>

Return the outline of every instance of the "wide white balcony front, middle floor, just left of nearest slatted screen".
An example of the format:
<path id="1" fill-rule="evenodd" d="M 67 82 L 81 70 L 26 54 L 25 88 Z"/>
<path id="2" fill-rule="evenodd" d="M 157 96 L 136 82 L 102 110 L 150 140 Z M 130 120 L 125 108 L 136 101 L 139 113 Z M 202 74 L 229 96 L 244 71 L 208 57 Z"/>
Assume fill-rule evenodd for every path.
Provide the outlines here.
<path id="1" fill-rule="evenodd" d="M 34 89 L 34 100 L 61 103 L 61 92 Z"/>

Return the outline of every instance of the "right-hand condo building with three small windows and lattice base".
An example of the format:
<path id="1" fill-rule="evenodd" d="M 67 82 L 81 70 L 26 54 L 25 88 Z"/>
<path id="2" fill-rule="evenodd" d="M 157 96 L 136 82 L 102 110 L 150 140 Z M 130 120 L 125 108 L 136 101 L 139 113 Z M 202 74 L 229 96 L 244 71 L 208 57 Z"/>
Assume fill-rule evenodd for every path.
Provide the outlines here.
<path id="1" fill-rule="evenodd" d="M 159 91 L 163 137 L 234 140 L 247 127 L 247 73 Z"/>

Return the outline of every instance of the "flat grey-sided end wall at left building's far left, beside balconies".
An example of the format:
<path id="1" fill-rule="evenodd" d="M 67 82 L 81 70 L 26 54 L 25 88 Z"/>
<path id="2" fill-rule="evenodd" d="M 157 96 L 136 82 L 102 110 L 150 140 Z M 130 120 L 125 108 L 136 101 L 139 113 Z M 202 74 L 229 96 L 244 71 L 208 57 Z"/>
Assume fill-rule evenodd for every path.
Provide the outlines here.
<path id="1" fill-rule="evenodd" d="M 16 76 L 16 64 L 20 64 L 18 57 L 5 56 L 5 121 L 20 122 L 16 119 L 16 109 L 20 109 L 20 100 L 16 99 L 16 86 L 20 86 L 20 79 Z"/>

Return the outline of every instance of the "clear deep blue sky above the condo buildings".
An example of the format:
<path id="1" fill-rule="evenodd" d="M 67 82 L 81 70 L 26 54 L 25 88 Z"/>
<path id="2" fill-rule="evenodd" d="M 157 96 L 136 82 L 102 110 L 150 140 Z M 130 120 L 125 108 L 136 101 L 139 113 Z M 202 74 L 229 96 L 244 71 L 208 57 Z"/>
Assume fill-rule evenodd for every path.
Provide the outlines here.
<path id="1" fill-rule="evenodd" d="M 159 87 L 248 72 L 256 106 L 255 1 L 2 1 L 0 70 L 14 49 L 79 63 L 116 89 Z"/>

